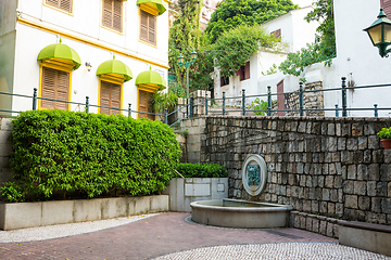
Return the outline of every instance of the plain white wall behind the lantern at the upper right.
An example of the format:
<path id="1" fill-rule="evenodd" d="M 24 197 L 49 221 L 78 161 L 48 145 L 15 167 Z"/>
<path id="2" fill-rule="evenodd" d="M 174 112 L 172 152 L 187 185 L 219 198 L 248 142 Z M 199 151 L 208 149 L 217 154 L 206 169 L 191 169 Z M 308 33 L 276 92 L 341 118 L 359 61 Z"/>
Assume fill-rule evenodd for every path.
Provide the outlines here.
<path id="1" fill-rule="evenodd" d="M 349 0 L 333 1 L 338 67 L 336 78 L 342 76 L 353 80 L 355 86 L 391 83 L 391 58 L 382 58 L 378 49 L 373 47 L 367 32 L 363 31 L 377 20 L 380 1 Z M 389 17 L 391 18 L 391 17 Z M 391 87 L 379 89 L 356 89 L 348 92 L 348 105 L 351 107 L 391 107 Z M 379 116 L 389 116 L 391 110 L 379 112 Z M 368 115 L 374 112 L 350 112 L 352 116 Z"/>

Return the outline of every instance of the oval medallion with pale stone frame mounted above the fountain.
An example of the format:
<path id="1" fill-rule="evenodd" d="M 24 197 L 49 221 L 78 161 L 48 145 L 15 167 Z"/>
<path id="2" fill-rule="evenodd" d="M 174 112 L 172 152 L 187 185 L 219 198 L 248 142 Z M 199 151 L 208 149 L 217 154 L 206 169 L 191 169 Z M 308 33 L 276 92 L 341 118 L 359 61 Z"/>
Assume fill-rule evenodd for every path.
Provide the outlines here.
<path id="1" fill-rule="evenodd" d="M 260 155 L 249 155 L 242 167 L 244 190 L 251 195 L 258 195 L 266 185 L 267 169 L 264 158 Z"/>

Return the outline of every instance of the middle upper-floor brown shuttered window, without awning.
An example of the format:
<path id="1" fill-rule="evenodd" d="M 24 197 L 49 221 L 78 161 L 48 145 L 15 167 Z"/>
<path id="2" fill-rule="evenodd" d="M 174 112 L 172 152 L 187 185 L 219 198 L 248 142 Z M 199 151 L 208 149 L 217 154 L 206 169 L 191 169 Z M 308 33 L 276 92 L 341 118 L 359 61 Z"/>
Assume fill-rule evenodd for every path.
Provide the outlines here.
<path id="1" fill-rule="evenodd" d="M 122 0 L 103 0 L 102 25 L 122 32 L 123 24 L 123 1 Z"/>

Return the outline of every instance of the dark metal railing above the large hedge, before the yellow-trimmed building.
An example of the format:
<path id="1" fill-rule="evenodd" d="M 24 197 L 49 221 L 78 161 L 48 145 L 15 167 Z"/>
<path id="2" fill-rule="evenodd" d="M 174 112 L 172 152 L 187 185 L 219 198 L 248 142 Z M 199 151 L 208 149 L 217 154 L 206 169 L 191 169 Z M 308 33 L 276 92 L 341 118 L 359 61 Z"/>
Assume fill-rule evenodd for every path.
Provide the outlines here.
<path id="1" fill-rule="evenodd" d="M 63 101 L 63 100 L 53 100 L 53 99 L 40 98 L 40 96 L 38 96 L 38 90 L 37 90 L 37 88 L 34 89 L 33 95 L 24 95 L 24 94 L 14 94 L 14 93 L 8 93 L 8 92 L 0 92 L 0 95 L 1 95 L 1 94 L 3 94 L 3 95 L 10 95 L 10 96 L 25 98 L 25 99 L 31 99 L 31 108 L 33 108 L 33 110 L 37 110 L 39 100 L 46 100 L 46 101 L 54 101 L 54 102 L 61 102 L 61 103 L 66 103 L 66 104 L 79 105 L 79 106 L 81 106 L 81 107 L 85 108 L 85 112 L 86 112 L 86 113 L 89 113 L 90 107 L 100 107 L 100 108 L 109 108 L 109 109 L 114 109 L 114 110 L 119 110 L 119 112 L 123 112 L 123 113 L 127 113 L 127 116 L 128 116 L 128 117 L 131 117 L 131 114 L 133 114 L 133 113 L 160 116 L 160 117 L 164 118 L 163 122 L 164 122 L 164 123 L 167 123 L 167 125 L 168 125 L 168 116 L 171 116 L 171 115 L 173 115 L 173 114 L 175 114 L 175 113 L 178 113 L 178 112 L 181 110 L 181 109 L 186 109 L 186 110 L 187 110 L 187 113 L 186 113 L 187 116 L 186 116 L 185 118 L 189 118 L 189 117 L 191 118 L 191 117 L 192 117 L 192 103 L 193 103 L 192 98 L 190 99 L 190 103 L 189 103 L 189 104 L 186 104 L 185 106 L 176 109 L 175 112 L 172 112 L 172 113 L 168 114 L 167 108 L 165 108 L 165 109 L 164 109 L 164 114 L 156 114 L 156 113 L 149 113 L 149 112 L 133 110 L 133 109 L 131 109 L 131 104 L 128 104 L 128 108 L 127 108 L 127 109 L 122 109 L 122 108 L 116 108 L 116 107 L 110 107 L 110 106 L 93 105 L 93 104 L 90 104 L 90 103 L 89 103 L 89 96 L 86 96 L 86 103 L 78 103 L 78 102 L 72 102 L 72 101 Z M 189 113 L 189 110 L 190 110 L 190 113 Z M 0 113 L 1 113 L 1 112 L 4 112 L 4 113 L 15 113 L 15 114 L 21 113 L 21 110 L 9 110 L 9 109 L 1 109 L 1 108 L 0 108 Z M 182 118 L 182 119 L 185 119 L 185 118 Z M 182 119 L 180 119 L 180 120 L 182 120 Z M 178 123 L 180 120 L 172 123 L 171 126 Z"/>

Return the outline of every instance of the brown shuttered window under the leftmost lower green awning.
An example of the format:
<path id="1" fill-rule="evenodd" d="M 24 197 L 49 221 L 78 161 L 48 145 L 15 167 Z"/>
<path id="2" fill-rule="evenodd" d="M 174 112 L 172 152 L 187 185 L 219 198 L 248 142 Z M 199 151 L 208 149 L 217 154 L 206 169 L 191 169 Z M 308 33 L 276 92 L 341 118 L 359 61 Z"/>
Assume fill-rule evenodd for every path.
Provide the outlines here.
<path id="1" fill-rule="evenodd" d="M 42 67 L 42 92 L 41 98 L 51 100 L 68 101 L 70 73 L 54 68 Z M 42 108 L 66 110 L 68 103 L 41 100 Z"/>

